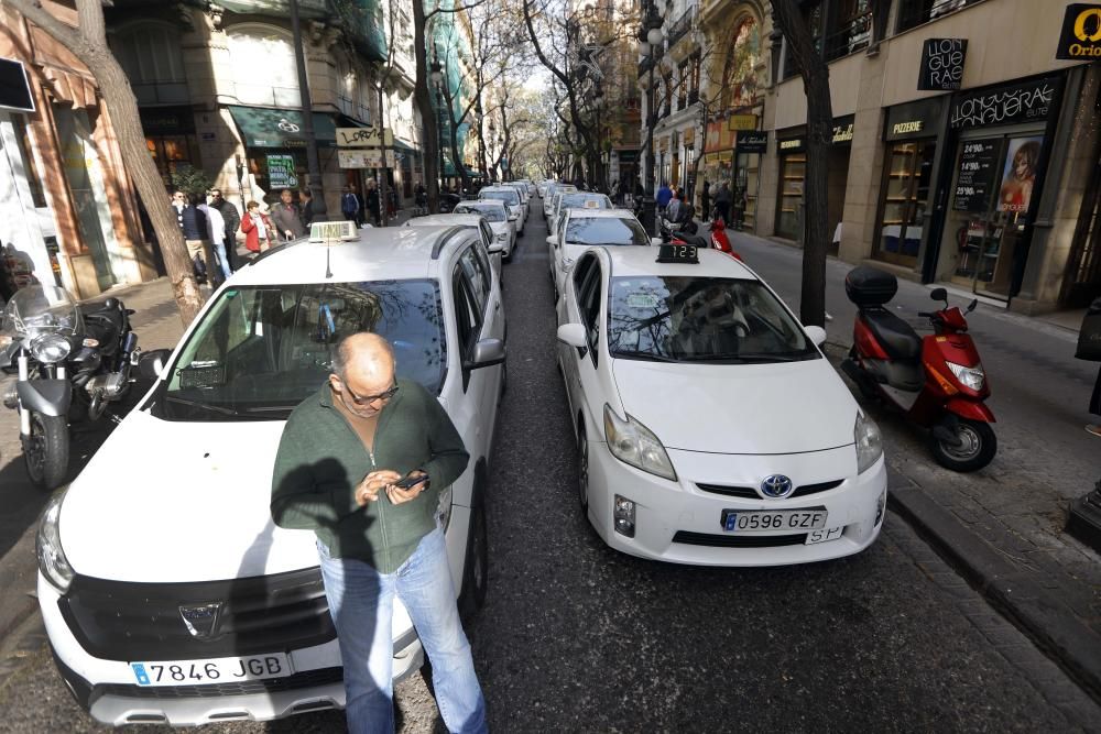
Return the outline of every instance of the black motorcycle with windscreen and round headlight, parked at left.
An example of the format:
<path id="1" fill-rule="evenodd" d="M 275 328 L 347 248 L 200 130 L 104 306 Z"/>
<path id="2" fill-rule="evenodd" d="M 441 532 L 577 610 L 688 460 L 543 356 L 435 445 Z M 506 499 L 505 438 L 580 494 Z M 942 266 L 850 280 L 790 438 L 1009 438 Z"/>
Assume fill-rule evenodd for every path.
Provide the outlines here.
<path id="1" fill-rule="evenodd" d="M 117 298 L 77 305 L 65 288 L 19 291 L 0 322 L 0 371 L 14 374 L 3 404 L 19 412 L 31 482 L 59 486 L 68 473 L 70 423 L 98 420 L 130 388 L 138 358 L 133 314 Z"/>

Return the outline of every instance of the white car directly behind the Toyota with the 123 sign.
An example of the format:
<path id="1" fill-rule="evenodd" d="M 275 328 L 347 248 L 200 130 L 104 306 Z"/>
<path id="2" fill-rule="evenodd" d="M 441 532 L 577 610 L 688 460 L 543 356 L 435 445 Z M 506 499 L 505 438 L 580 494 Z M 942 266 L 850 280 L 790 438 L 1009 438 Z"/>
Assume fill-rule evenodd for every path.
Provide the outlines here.
<path id="1" fill-rule="evenodd" d="M 547 237 L 550 282 L 555 296 L 565 291 L 566 274 L 585 250 L 592 245 L 661 244 L 626 209 L 566 209 L 554 233 Z"/>

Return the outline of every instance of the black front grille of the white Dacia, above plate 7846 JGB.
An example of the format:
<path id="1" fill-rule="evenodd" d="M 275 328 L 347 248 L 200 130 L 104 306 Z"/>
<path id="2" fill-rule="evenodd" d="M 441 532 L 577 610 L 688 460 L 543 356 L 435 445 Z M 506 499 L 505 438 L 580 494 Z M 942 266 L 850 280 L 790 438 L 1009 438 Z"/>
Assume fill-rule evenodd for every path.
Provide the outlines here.
<path id="1" fill-rule="evenodd" d="M 179 607 L 219 603 L 210 634 L 193 635 Z M 320 569 L 316 567 L 194 583 L 131 583 L 77 577 L 57 604 L 80 646 L 107 660 L 259 655 L 336 639 Z"/>

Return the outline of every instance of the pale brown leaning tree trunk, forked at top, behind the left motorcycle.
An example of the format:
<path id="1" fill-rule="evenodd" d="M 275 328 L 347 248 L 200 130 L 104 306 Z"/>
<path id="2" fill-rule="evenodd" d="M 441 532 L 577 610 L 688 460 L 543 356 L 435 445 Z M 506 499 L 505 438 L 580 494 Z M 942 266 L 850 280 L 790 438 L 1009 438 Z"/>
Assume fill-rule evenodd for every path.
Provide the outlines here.
<path id="1" fill-rule="evenodd" d="M 179 318 L 187 326 L 203 307 L 203 294 L 195 281 L 183 233 L 168 207 L 164 182 L 145 147 L 145 134 L 142 132 L 138 101 L 130 88 L 130 80 L 107 45 L 102 0 L 76 0 L 76 28 L 51 15 L 37 0 L 3 2 L 69 50 L 95 77 L 119 141 L 127 173 L 145 205 L 153 231 L 161 243 Z"/>

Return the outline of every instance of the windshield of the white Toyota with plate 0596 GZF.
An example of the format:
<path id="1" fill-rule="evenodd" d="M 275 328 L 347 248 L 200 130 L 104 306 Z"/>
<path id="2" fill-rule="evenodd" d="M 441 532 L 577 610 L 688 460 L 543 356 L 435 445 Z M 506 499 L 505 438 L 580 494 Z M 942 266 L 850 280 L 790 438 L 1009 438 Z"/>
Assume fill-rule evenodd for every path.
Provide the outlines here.
<path id="1" fill-rule="evenodd" d="M 621 359 L 727 364 L 819 357 L 760 281 L 687 276 L 611 278 L 608 351 Z"/>

